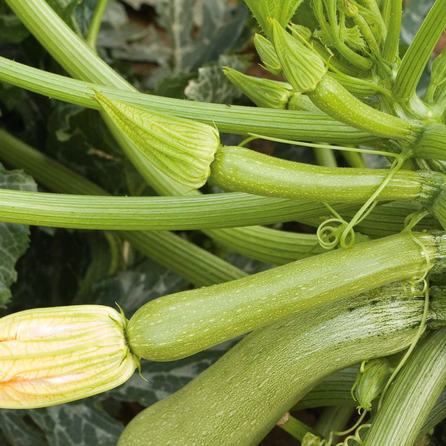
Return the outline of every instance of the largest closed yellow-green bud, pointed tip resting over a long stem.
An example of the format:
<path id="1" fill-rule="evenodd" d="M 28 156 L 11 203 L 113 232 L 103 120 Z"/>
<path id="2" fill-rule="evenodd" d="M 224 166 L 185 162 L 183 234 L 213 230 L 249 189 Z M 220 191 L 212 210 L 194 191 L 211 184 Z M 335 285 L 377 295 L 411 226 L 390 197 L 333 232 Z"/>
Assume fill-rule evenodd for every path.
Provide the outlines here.
<path id="1" fill-rule="evenodd" d="M 191 190 L 206 183 L 220 145 L 216 128 L 138 108 L 99 91 L 95 91 L 94 99 L 157 169 Z"/>

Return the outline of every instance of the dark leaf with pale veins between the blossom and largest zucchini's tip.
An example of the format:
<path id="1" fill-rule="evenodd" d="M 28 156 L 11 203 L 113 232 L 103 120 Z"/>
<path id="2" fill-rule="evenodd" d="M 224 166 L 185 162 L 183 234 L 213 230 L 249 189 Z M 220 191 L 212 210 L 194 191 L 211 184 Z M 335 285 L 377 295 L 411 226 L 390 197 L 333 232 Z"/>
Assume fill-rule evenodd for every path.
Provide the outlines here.
<path id="1" fill-rule="evenodd" d="M 124 426 L 92 399 L 29 410 L 50 446 L 116 446 Z M 34 444 L 33 444 L 34 446 Z"/>

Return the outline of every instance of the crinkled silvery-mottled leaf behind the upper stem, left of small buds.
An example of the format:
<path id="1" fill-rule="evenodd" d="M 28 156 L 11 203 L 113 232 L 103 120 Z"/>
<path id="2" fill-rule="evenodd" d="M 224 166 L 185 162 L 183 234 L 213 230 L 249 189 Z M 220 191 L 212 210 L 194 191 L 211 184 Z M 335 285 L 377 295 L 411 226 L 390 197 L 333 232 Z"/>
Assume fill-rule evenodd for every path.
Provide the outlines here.
<path id="1" fill-rule="evenodd" d="M 186 97 L 200 102 L 233 103 L 242 92 L 224 75 L 223 66 L 243 72 L 250 64 L 250 56 L 220 56 L 219 62 L 198 69 L 198 79 L 191 80 L 185 89 Z"/>

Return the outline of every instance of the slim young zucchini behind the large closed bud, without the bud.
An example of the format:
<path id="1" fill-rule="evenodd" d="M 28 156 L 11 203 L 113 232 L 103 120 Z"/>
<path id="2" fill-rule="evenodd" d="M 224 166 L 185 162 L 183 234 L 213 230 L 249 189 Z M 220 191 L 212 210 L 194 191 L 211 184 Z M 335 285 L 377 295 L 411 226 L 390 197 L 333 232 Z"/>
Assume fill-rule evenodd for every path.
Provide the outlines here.
<path id="1" fill-rule="evenodd" d="M 342 197 L 345 202 L 360 204 L 367 201 L 387 175 L 387 169 L 322 167 L 240 147 L 223 147 L 215 154 L 210 181 L 227 191 L 326 202 Z M 444 182 L 442 173 L 400 170 L 378 199 L 432 204 Z"/>

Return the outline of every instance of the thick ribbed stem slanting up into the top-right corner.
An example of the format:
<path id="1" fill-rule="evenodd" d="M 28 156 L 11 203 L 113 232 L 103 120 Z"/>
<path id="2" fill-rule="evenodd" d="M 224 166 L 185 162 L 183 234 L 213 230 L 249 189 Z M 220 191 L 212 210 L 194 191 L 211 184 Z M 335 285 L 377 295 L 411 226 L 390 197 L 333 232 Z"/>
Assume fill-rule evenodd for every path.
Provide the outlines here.
<path id="1" fill-rule="evenodd" d="M 393 94 L 410 99 L 446 26 L 446 0 L 437 0 L 409 46 L 396 74 Z"/>

